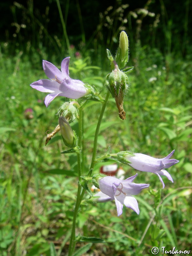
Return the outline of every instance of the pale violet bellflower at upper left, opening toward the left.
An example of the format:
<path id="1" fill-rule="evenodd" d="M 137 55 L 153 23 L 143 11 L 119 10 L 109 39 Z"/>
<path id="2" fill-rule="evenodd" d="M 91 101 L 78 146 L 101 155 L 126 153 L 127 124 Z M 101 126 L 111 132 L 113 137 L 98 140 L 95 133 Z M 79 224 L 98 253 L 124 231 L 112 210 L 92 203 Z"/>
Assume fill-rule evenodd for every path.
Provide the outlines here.
<path id="1" fill-rule="evenodd" d="M 32 88 L 40 92 L 50 93 L 45 97 L 46 107 L 57 96 L 78 99 L 90 93 L 82 81 L 70 78 L 68 69 L 69 60 L 70 57 L 67 57 L 61 62 L 61 71 L 51 62 L 43 60 L 44 72 L 51 80 L 40 79 L 30 84 Z"/>

